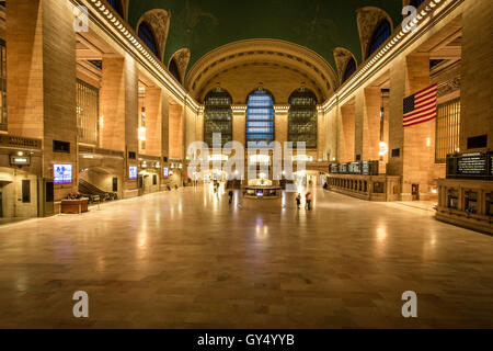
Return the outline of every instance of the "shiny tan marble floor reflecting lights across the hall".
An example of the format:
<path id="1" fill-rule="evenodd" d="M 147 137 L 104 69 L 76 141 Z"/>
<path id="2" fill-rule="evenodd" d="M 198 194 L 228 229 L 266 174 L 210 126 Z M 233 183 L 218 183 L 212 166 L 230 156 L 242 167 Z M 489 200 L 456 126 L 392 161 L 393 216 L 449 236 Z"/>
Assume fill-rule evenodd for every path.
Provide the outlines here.
<path id="1" fill-rule="evenodd" d="M 313 193 L 311 212 L 200 188 L 1 226 L 0 328 L 493 327 L 492 237 Z"/>

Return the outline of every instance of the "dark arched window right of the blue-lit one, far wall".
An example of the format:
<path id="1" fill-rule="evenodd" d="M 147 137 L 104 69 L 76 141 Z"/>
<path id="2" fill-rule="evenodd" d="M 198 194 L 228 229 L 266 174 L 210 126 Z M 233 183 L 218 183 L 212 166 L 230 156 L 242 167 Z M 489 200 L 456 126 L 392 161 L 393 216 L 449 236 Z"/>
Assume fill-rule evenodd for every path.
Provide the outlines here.
<path id="1" fill-rule="evenodd" d="M 317 132 L 317 97 L 311 90 L 300 88 L 289 97 L 288 141 L 294 147 L 305 141 L 307 149 L 316 149 Z"/>

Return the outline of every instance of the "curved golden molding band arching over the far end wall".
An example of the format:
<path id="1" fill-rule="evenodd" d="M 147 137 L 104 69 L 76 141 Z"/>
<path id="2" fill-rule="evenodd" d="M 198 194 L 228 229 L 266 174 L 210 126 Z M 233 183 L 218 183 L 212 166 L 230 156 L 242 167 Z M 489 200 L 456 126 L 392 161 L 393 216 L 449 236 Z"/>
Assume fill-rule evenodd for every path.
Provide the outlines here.
<path id="1" fill-rule="evenodd" d="M 185 87 L 192 97 L 200 100 L 204 89 L 214 83 L 218 75 L 246 66 L 297 72 L 314 86 L 320 101 L 331 97 L 339 86 L 334 69 L 317 53 L 278 39 L 249 39 L 221 46 L 203 56 L 190 70 Z"/>

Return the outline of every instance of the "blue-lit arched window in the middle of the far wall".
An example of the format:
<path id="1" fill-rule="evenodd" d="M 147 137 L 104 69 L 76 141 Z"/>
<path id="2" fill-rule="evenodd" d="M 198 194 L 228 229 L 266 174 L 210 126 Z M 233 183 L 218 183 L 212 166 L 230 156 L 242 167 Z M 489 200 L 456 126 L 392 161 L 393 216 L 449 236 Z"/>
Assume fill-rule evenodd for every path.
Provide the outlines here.
<path id="1" fill-rule="evenodd" d="M 259 89 L 248 99 L 246 146 L 263 147 L 274 141 L 274 99 L 272 94 Z"/>

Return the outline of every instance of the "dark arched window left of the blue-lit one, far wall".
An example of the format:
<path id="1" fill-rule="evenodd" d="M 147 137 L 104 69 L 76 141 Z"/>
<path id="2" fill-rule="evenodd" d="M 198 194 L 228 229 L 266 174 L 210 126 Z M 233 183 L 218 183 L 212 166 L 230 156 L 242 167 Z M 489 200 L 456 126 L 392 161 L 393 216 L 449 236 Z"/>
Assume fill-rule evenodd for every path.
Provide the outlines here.
<path id="1" fill-rule="evenodd" d="M 231 103 L 231 95 L 221 88 L 211 90 L 204 100 L 204 141 L 210 148 L 215 133 L 221 134 L 221 146 L 232 140 Z"/>

